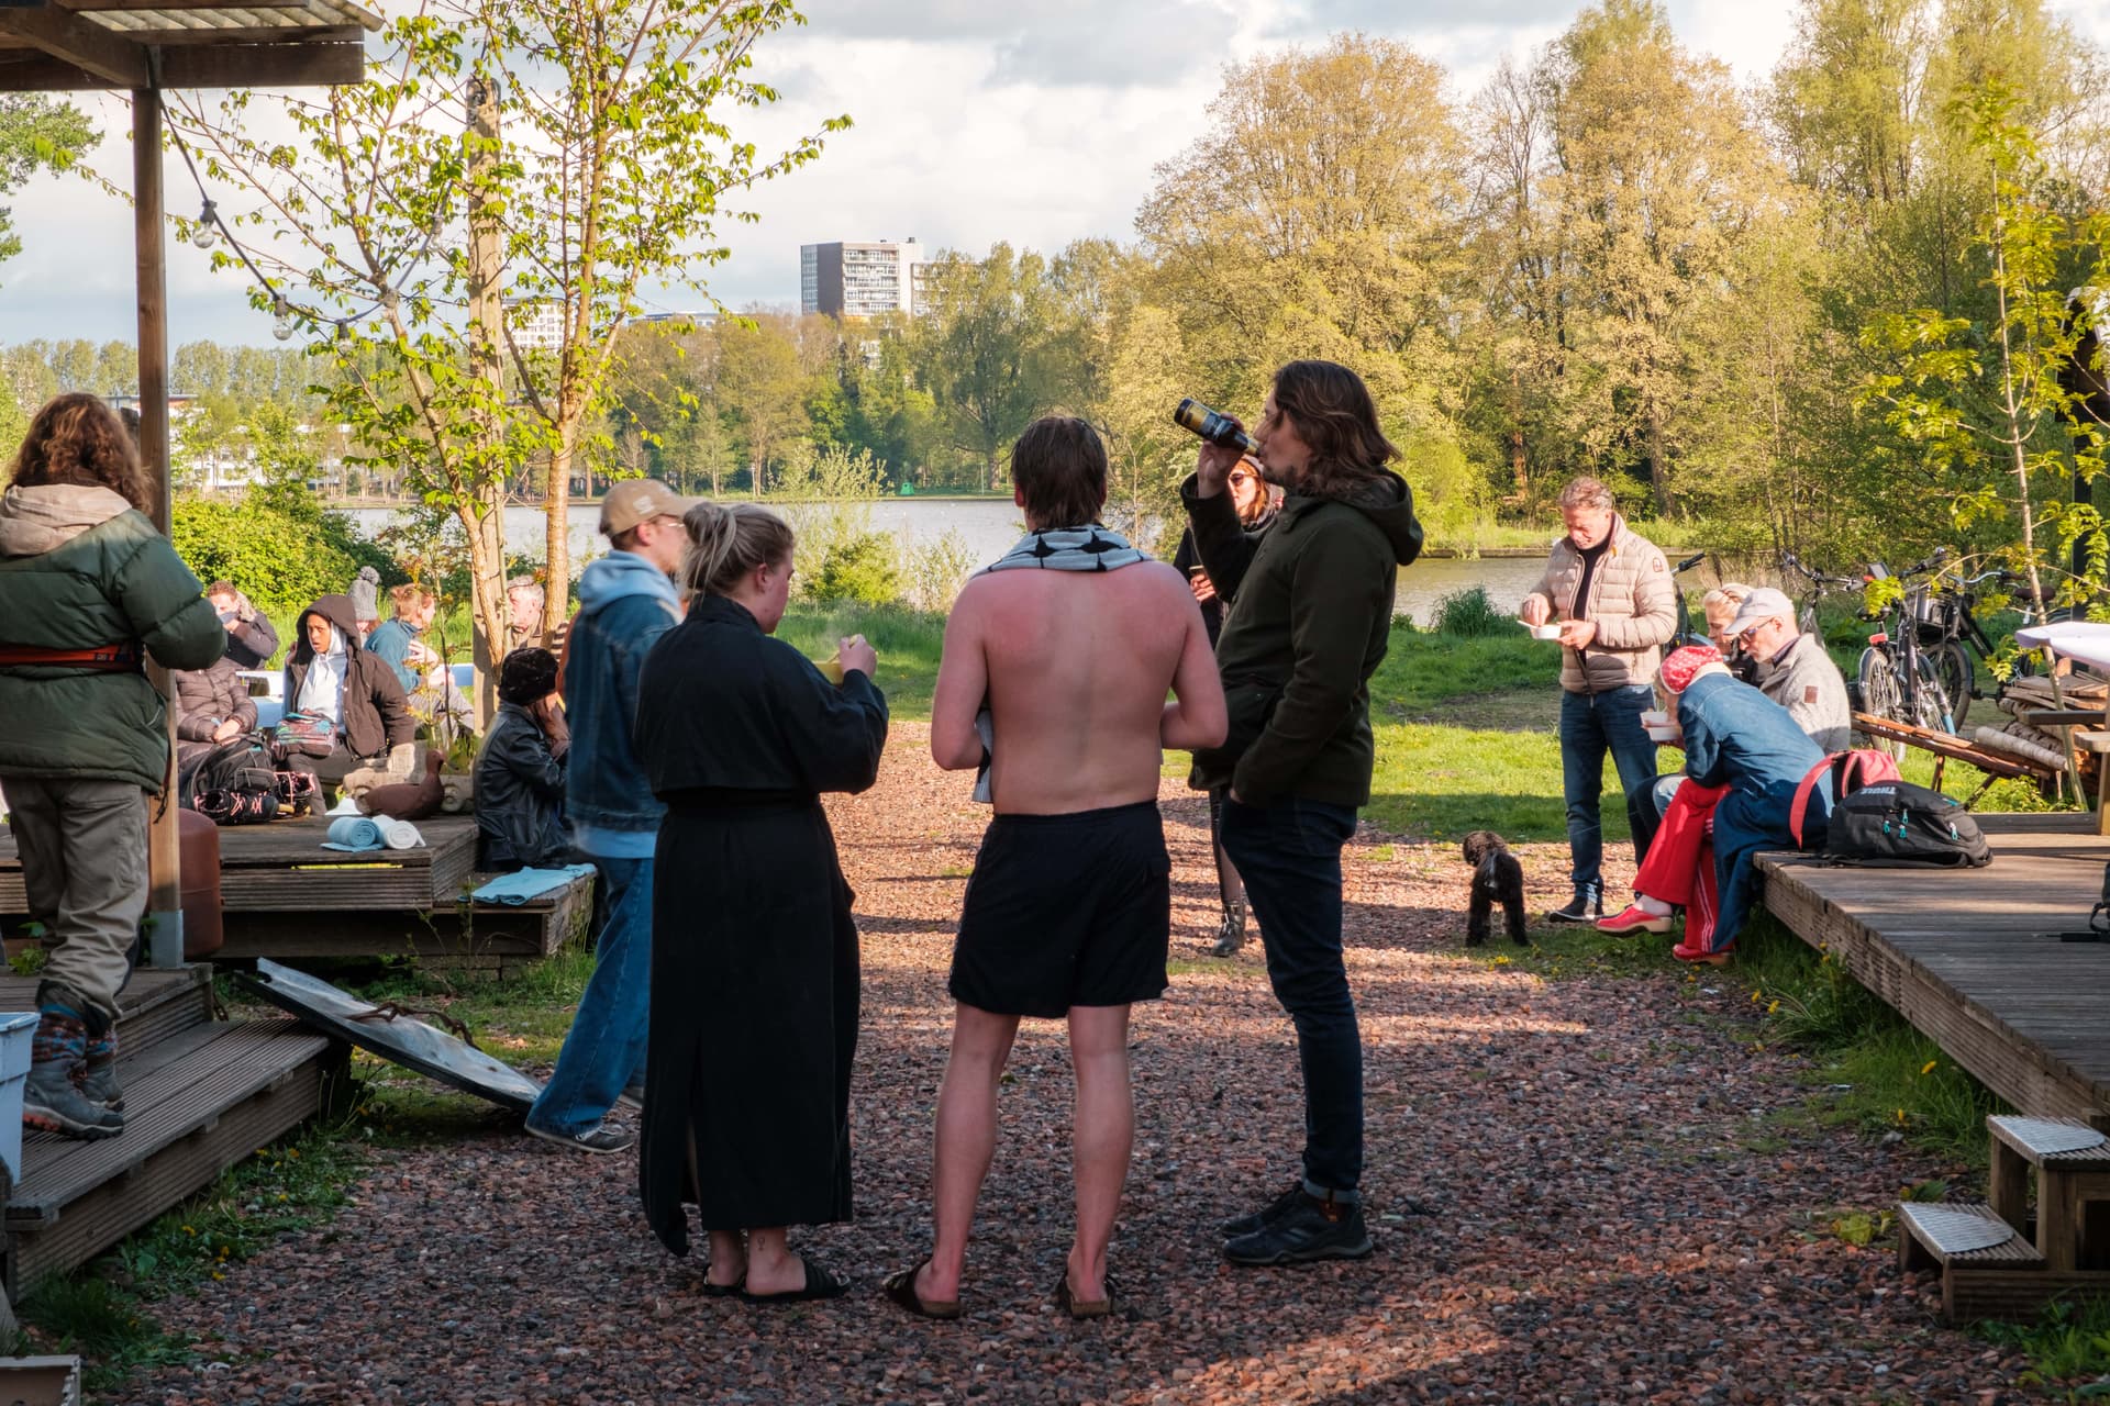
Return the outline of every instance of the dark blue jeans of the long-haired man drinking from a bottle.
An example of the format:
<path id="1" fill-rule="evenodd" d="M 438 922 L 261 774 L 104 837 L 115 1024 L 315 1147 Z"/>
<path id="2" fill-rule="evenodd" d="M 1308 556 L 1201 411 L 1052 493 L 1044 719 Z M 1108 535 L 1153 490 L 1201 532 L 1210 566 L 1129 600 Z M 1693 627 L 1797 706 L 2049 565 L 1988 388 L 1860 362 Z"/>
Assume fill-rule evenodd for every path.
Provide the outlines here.
<path id="1" fill-rule="evenodd" d="M 1321 1191 L 1363 1180 L 1363 1035 L 1340 955 L 1340 847 L 1350 835 L 1348 805 L 1224 799 L 1224 852 L 1260 919 L 1274 999 L 1298 1027 L 1304 1180 Z"/>

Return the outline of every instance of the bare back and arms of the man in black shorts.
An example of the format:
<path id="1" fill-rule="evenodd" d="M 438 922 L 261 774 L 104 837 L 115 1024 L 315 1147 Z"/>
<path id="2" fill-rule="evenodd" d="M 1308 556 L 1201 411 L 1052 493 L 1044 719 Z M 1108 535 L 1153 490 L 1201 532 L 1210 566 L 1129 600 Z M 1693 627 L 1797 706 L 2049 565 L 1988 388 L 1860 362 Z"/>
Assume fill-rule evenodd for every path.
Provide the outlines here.
<path id="1" fill-rule="evenodd" d="M 1226 727 L 1201 607 L 1156 561 L 971 580 L 945 624 L 931 706 L 941 767 L 979 765 L 983 706 L 996 729 L 992 797 L 1015 816 L 1154 801 L 1160 748 L 1215 746 Z"/>

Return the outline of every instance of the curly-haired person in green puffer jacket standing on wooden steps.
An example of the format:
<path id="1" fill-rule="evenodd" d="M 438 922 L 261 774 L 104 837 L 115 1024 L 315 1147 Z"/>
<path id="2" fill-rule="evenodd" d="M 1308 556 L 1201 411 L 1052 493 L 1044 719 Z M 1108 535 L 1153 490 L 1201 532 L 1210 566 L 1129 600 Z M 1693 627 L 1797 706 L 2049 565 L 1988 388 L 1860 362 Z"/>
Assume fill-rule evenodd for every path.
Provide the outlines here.
<path id="1" fill-rule="evenodd" d="M 148 504 L 124 426 L 80 392 L 36 413 L 0 497 L 0 786 L 30 913 L 57 938 L 23 1124 L 74 1138 L 124 1130 L 118 991 L 148 900 L 146 795 L 169 780 L 141 662 L 207 668 L 228 647 Z"/>

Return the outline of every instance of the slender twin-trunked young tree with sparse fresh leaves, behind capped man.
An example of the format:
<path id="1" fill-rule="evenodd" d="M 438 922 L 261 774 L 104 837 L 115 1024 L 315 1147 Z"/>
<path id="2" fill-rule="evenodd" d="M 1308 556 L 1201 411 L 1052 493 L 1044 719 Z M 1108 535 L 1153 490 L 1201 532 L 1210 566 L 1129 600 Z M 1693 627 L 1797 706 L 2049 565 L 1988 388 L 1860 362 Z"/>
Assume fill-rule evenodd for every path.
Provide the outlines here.
<path id="1" fill-rule="evenodd" d="M 388 23 L 363 84 L 179 99 L 207 173 L 257 202 L 238 226 L 274 236 L 251 251 L 272 276 L 253 299 L 285 299 L 344 375 L 329 405 L 354 457 L 405 466 L 462 525 L 485 639 L 504 639 L 506 485 L 534 464 L 557 586 L 544 624 L 563 616 L 568 481 L 606 436 L 639 287 L 701 289 L 726 253 L 726 196 L 819 156 L 821 133 L 764 156 L 724 120 L 774 101 L 753 46 L 793 23 L 787 0 L 424 0 Z M 251 122 L 253 105 L 272 118 Z M 449 238 L 464 226 L 466 247 Z M 555 348 L 521 348 L 500 293 L 553 308 Z"/>

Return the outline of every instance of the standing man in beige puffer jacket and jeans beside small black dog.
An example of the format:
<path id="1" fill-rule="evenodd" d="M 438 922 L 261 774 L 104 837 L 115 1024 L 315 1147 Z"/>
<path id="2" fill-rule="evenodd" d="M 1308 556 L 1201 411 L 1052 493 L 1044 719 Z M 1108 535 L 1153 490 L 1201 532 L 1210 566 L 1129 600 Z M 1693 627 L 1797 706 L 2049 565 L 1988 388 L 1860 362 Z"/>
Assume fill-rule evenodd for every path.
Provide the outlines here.
<path id="1" fill-rule="evenodd" d="M 1627 793 L 1656 776 L 1642 712 L 1654 706 L 1658 645 L 1677 630 L 1677 588 L 1663 552 L 1627 527 L 1612 491 L 1595 479 L 1561 489 L 1561 521 L 1568 535 L 1553 544 L 1547 573 L 1523 599 L 1526 622 L 1561 622 L 1561 788 L 1574 900 L 1547 917 L 1593 923 L 1604 915 L 1604 755 L 1612 753 Z"/>

